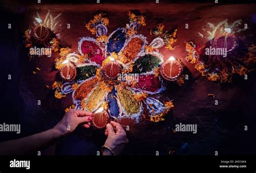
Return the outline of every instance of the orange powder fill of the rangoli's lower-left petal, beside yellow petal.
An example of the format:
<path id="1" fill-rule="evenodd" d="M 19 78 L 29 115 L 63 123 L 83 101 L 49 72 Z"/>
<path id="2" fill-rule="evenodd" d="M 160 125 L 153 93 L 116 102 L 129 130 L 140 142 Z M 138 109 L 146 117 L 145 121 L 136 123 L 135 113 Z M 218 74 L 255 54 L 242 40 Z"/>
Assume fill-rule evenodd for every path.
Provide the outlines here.
<path id="1" fill-rule="evenodd" d="M 82 85 L 80 85 L 74 94 L 76 100 L 83 100 L 92 91 L 92 88 L 97 84 L 96 79 L 87 80 Z"/>

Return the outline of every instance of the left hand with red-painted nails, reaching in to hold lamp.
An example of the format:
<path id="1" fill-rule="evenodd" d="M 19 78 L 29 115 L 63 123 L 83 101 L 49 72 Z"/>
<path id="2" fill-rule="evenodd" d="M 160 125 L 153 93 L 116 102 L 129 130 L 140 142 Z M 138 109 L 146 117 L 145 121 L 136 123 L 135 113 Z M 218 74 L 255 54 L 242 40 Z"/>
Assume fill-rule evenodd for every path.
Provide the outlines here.
<path id="1" fill-rule="evenodd" d="M 89 128 L 91 126 L 90 121 L 92 120 L 91 114 L 85 110 L 71 109 L 53 129 L 56 129 L 60 135 L 65 135 L 72 133 L 78 124 L 81 123 L 83 123 L 85 128 Z"/>

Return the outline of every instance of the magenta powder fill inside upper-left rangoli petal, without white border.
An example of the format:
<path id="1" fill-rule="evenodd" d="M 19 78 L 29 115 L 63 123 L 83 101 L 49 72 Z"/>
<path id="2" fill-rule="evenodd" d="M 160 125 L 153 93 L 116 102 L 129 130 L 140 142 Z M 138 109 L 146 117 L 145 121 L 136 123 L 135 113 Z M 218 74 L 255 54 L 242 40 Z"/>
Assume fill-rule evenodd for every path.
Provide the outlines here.
<path id="1" fill-rule="evenodd" d="M 92 41 L 83 41 L 81 49 L 83 54 L 87 54 L 88 59 L 97 64 L 101 64 L 104 60 L 103 51 L 96 43 L 93 43 Z"/>

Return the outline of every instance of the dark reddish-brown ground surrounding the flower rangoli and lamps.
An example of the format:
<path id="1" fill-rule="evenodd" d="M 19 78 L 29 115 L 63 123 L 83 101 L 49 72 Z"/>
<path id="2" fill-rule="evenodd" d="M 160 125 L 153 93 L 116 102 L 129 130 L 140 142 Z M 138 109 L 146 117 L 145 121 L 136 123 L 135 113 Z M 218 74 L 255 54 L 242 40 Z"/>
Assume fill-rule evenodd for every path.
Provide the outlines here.
<path id="1" fill-rule="evenodd" d="M 3 10 L 2 10 L 3 9 Z M 1 14 L 5 18 L 3 23 L 12 23 L 13 29 L 1 29 L 1 122 L 21 123 L 21 134 L 3 134 L 1 141 L 15 139 L 49 129 L 62 119 L 64 108 L 71 105 L 71 98 L 57 100 L 51 86 L 55 81 L 56 71 L 53 68 L 52 58 L 41 57 L 29 59 L 25 49 L 22 32 L 33 21 L 33 15 L 38 11 L 45 14 L 48 10 L 53 14 L 62 14 L 63 27 L 60 30 L 62 44 L 77 51 L 78 40 L 83 36 L 91 36 L 86 30 L 84 21 L 88 22 L 97 11 L 107 12 L 110 19 L 109 33 L 117 27 L 124 27 L 128 22 L 126 13 L 129 10 L 139 10 L 146 15 L 146 26 L 138 33 L 144 34 L 148 42 L 150 30 L 157 23 L 162 22 L 165 29 L 177 27 L 178 41 L 176 49 L 168 51 L 161 49 L 165 59 L 170 56 L 181 59 L 186 66 L 184 74 L 189 80 L 181 87 L 169 85 L 167 91 L 160 94 L 167 96 L 174 103 L 173 111 L 166 116 L 166 121 L 151 123 L 143 120 L 136 124 L 132 121 L 120 122 L 130 125 L 127 132 L 130 143 L 124 150 L 128 155 L 154 155 L 159 151 L 161 155 L 255 155 L 255 72 L 248 75 L 248 80 L 234 79 L 231 84 L 220 84 L 208 81 L 201 77 L 194 66 L 185 61 L 185 43 L 193 40 L 204 44 L 206 39 L 199 36 L 206 23 L 217 24 L 228 19 L 228 22 L 242 19 L 248 23 L 250 29 L 239 34 L 245 36 L 244 42 L 255 44 L 255 4 L 213 4 L 207 3 L 104 3 L 104 4 L 20 4 L 5 2 L 1 7 Z M 70 23 L 71 29 L 65 29 Z M 188 23 L 189 29 L 185 29 Z M 252 34 L 252 36 L 251 36 Z M 32 71 L 36 67 L 42 68 L 36 75 Z M 12 74 L 12 80 L 6 76 Z M 214 98 L 207 96 L 215 94 L 219 105 L 214 105 Z M 37 100 L 42 105 L 37 106 Z M 197 134 L 173 132 L 178 123 L 197 124 Z M 244 130 L 248 126 L 248 131 Z M 90 130 L 89 130 L 90 131 Z M 104 136 L 79 129 L 76 134 L 91 136 L 96 146 L 102 145 Z M 88 135 L 85 135 L 88 134 Z M 76 143 L 76 141 L 74 141 Z M 61 146 L 62 143 L 59 142 Z M 72 149 L 71 149 L 72 150 Z M 45 150 L 45 154 L 52 154 L 52 148 Z"/>

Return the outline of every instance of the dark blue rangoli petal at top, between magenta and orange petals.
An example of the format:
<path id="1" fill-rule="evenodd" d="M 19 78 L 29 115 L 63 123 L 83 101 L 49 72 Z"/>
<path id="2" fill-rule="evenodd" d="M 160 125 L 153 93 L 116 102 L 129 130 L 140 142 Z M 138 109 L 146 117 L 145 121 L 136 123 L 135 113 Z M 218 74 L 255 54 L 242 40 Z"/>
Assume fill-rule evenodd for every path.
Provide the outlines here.
<path id="1" fill-rule="evenodd" d="M 126 32 L 124 28 L 118 28 L 109 35 L 109 42 L 106 44 L 108 53 L 118 53 L 124 46 L 126 40 Z"/>

